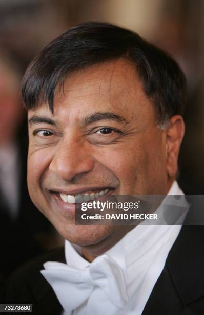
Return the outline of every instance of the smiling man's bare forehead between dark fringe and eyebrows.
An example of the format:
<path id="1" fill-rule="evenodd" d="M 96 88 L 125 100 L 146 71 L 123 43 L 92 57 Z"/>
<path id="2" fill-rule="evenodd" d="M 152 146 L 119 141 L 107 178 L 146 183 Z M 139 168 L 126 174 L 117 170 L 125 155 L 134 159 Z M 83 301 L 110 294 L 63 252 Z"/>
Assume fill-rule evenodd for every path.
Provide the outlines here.
<path id="1" fill-rule="evenodd" d="M 146 97 L 135 66 L 124 59 L 80 69 L 67 76 L 57 86 L 54 116 L 78 117 L 94 112 L 111 111 L 127 119 L 139 113 L 154 115 L 151 101 Z M 48 111 L 39 106 L 34 112 Z M 51 113 L 49 113 L 51 114 Z"/>

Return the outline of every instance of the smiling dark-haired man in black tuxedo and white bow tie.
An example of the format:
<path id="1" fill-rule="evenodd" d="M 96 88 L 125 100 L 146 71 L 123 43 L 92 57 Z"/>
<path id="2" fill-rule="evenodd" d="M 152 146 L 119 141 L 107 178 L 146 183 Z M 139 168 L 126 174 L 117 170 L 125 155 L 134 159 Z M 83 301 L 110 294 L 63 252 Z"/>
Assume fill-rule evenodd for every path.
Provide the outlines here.
<path id="1" fill-rule="evenodd" d="M 71 28 L 34 59 L 22 83 L 28 187 L 66 239 L 66 257 L 59 250 L 18 270 L 4 303 L 38 314 L 203 313 L 199 227 L 75 225 L 77 199 L 183 194 L 185 90 L 171 57 L 105 23 Z"/>

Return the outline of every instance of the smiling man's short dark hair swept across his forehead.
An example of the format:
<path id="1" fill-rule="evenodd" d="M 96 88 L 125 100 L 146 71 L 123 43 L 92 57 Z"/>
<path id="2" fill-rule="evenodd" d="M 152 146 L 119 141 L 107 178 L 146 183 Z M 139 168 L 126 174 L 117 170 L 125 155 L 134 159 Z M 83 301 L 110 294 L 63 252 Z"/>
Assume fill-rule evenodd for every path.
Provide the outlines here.
<path id="1" fill-rule="evenodd" d="M 34 58 L 22 81 L 24 106 L 29 110 L 48 102 L 53 112 L 56 86 L 69 73 L 119 58 L 135 66 L 160 125 L 183 114 L 186 79 L 174 59 L 133 31 L 98 22 L 70 28 Z"/>

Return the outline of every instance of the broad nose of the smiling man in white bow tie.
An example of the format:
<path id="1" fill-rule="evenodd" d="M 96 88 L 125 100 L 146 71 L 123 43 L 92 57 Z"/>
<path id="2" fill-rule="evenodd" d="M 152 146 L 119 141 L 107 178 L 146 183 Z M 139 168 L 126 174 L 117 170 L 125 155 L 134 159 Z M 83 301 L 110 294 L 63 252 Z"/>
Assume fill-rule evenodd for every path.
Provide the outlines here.
<path id="1" fill-rule="evenodd" d="M 62 142 L 50 163 L 49 170 L 64 181 L 71 181 L 75 176 L 90 172 L 94 159 L 81 142 Z"/>

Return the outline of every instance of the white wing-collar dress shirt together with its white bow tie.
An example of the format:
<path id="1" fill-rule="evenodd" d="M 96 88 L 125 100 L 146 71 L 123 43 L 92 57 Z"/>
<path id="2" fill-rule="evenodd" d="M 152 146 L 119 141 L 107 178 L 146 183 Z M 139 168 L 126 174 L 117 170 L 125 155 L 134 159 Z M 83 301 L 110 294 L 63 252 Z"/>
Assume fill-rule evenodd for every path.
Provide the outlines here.
<path id="1" fill-rule="evenodd" d="M 183 195 L 177 182 L 168 195 Z M 48 261 L 41 273 L 63 315 L 141 315 L 180 229 L 181 225 L 138 225 L 92 263 L 66 240 L 67 264 Z"/>

